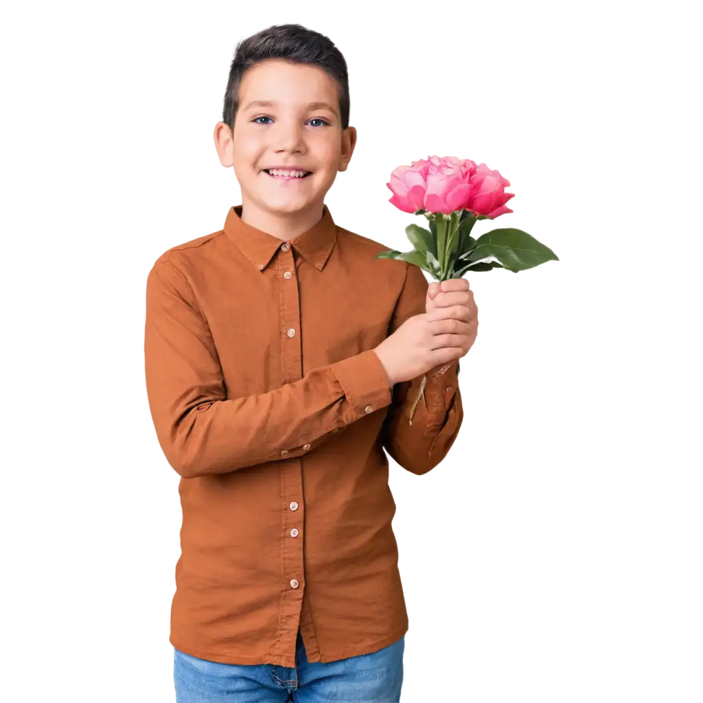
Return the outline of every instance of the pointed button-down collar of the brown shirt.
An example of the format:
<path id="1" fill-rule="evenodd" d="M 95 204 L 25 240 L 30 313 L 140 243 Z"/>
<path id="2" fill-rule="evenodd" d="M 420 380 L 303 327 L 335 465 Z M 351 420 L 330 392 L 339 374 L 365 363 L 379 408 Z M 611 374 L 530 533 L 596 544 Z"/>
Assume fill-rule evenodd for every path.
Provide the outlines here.
<path id="1" fill-rule="evenodd" d="M 224 220 L 224 232 L 259 271 L 266 269 L 284 244 L 277 237 L 243 222 L 240 218 L 240 208 L 228 209 Z M 311 266 L 322 271 L 335 247 L 336 240 L 337 226 L 334 216 L 330 209 L 325 207 L 322 219 L 307 232 L 290 240 L 290 245 Z"/>

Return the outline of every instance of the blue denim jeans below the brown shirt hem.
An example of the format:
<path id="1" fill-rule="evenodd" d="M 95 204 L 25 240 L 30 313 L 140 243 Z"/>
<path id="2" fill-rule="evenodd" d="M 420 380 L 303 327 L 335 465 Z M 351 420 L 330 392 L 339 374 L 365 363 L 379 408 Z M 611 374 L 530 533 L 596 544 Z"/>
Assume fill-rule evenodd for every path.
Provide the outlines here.
<path id="1" fill-rule="evenodd" d="M 373 654 L 308 662 L 298 633 L 295 669 L 238 666 L 171 650 L 171 703 L 397 703 L 405 638 Z"/>

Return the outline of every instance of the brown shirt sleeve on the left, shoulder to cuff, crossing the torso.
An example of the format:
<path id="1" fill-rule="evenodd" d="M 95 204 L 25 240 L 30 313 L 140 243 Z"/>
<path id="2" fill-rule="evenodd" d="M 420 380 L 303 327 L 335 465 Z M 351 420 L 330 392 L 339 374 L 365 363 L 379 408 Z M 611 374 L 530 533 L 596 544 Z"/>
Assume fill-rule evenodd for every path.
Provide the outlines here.
<path id="1" fill-rule="evenodd" d="M 144 293 L 144 401 L 162 457 L 181 477 L 301 456 L 391 402 L 373 351 L 268 393 L 228 399 L 217 347 L 186 278 L 162 262 L 148 272 Z"/>

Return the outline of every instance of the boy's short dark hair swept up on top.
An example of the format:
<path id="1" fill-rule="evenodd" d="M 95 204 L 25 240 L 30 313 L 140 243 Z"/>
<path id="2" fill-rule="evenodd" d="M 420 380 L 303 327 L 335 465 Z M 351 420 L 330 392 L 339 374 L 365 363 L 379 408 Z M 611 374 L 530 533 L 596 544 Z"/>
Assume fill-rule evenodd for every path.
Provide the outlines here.
<path id="1" fill-rule="evenodd" d="M 234 127 L 239 108 L 239 85 L 245 72 L 272 58 L 318 66 L 339 86 L 342 129 L 352 121 L 349 75 L 339 42 L 313 27 L 289 22 L 267 22 L 254 32 L 238 34 L 230 42 L 231 58 L 225 63 L 225 83 L 220 90 L 219 119 Z"/>

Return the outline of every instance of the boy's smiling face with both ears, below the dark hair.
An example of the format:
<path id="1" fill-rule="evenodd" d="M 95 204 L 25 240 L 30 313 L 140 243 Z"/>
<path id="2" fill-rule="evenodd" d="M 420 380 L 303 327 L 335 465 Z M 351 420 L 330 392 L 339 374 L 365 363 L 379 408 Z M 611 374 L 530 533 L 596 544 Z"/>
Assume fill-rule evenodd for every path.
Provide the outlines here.
<path id="1" fill-rule="evenodd" d="M 321 215 L 353 143 L 354 129 L 342 131 L 335 80 L 283 60 L 247 70 L 234 129 L 221 122 L 215 129 L 220 165 L 231 169 L 243 211 L 257 221 Z"/>

